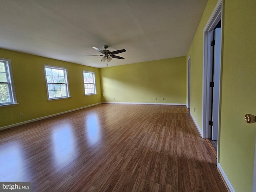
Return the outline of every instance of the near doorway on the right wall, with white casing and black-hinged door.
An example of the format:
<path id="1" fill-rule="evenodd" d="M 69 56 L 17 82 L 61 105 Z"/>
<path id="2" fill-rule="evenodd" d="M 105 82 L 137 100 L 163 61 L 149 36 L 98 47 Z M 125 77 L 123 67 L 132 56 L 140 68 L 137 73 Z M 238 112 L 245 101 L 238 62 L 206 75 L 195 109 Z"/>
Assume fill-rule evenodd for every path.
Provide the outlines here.
<path id="1" fill-rule="evenodd" d="M 217 141 L 217 164 L 219 149 L 220 113 L 220 64 L 222 1 L 219 1 L 204 28 L 203 59 L 203 138 Z"/>

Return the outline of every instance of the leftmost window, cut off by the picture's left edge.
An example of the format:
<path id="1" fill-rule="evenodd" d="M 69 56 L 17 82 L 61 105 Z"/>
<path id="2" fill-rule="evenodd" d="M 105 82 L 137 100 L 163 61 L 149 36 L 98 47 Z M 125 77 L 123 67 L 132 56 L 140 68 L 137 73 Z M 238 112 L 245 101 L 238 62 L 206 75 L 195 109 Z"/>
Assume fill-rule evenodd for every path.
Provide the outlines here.
<path id="1" fill-rule="evenodd" d="M 0 58 L 0 106 L 17 104 L 11 60 Z"/>

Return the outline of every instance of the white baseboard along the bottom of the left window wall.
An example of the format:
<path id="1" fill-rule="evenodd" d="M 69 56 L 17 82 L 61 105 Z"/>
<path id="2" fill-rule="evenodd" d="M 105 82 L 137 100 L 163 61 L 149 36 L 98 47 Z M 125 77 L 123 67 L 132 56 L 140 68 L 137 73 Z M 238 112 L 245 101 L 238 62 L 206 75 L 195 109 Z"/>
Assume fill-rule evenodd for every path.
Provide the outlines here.
<path id="1" fill-rule="evenodd" d="M 88 105 L 88 106 L 84 106 L 84 107 L 80 107 L 80 108 L 76 108 L 76 109 L 72 109 L 72 110 L 68 110 L 68 111 L 64 111 L 64 112 L 60 112 L 60 113 L 56 113 L 56 114 L 52 114 L 52 115 L 48 115 L 48 116 L 44 116 L 44 117 L 40 117 L 40 118 L 36 118 L 36 119 L 32 119 L 32 120 L 28 120 L 28 121 L 24 121 L 24 122 L 20 122 L 20 123 L 16 123 L 16 124 L 12 124 L 12 125 L 8 125 L 8 126 L 4 126 L 4 127 L 0 127 L 0 130 L 12 128 L 12 127 L 15 127 L 15 126 L 19 126 L 19 125 L 23 125 L 23 124 L 27 124 L 27 123 L 31 123 L 31 122 L 35 122 L 35 121 L 39 121 L 39 120 L 42 120 L 42 119 L 54 117 L 54 116 L 57 116 L 57 115 L 69 113 L 69 112 L 72 112 L 72 111 L 88 108 L 88 107 L 91 107 L 91 106 L 94 106 L 94 105 L 99 105 L 99 104 L 101 104 L 101 102 L 96 103 L 96 104 L 92 104 L 92 105 Z"/>

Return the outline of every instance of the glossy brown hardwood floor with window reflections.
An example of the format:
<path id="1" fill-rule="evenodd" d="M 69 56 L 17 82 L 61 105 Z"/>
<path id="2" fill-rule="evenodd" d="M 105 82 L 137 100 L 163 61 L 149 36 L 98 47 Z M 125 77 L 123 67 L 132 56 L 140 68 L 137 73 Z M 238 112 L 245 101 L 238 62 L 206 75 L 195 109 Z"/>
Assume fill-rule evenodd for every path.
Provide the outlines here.
<path id="1" fill-rule="evenodd" d="M 185 106 L 100 104 L 0 132 L 0 181 L 33 192 L 226 192 Z"/>

